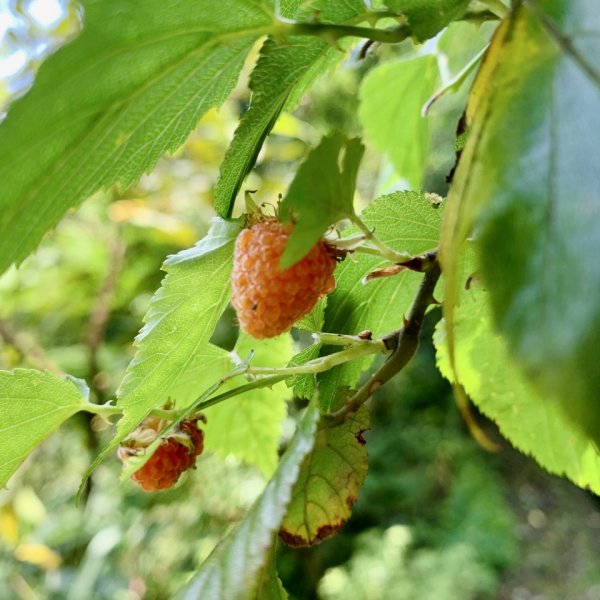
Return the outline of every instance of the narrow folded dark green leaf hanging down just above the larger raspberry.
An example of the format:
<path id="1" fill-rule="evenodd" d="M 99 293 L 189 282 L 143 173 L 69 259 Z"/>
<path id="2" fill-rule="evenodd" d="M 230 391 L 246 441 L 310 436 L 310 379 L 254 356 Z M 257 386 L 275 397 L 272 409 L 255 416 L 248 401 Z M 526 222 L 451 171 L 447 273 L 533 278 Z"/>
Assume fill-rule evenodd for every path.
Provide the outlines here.
<path id="1" fill-rule="evenodd" d="M 361 0 L 287 2 L 281 7 L 286 18 L 302 20 L 318 11 L 319 20 L 351 21 L 365 12 Z M 250 78 L 252 101 L 242 117 L 221 165 L 215 189 L 215 208 L 223 217 L 231 215 L 237 193 L 254 166 L 258 153 L 281 111 L 292 110 L 315 79 L 333 68 L 343 53 L 312 36 L 267 39 Z"/>

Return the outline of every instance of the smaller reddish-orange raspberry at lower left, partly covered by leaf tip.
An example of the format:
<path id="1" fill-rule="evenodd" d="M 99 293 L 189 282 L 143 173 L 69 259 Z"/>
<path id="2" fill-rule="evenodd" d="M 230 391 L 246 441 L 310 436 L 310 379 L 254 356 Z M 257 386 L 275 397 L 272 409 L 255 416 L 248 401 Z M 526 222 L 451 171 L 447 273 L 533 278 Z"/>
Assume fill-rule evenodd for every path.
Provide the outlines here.
<path id="1" fill-rule="evenodd" d="M 168 425 L 160 419 L 148 417 L 124 441 L 118 450 L 119 458 L 126 462 L 143 453 Z M 144 490 L 151 492 L 173 487 L 180 475 L 196 464 L 204 449 L 204 433 L 198 429 L 198 420 L 182 421 L 177 430 L 169 434 L 146 463 L 133 473 L 131 479 Z"/>

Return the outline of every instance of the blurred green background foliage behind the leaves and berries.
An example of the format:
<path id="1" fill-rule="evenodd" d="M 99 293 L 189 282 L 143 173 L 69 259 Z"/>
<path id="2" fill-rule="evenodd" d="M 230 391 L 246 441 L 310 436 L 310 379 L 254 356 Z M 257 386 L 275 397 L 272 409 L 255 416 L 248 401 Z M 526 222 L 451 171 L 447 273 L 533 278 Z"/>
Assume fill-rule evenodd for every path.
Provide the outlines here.
<path id="1" fill-rule="evenodd" d="M 485 27 L 450 28 L 439 48 L 452 72 L 462 66 L 460 39 L 488 35 Z M 406 52 L 377 49 L 365 60 L 355 53 L 294 115 L 283 115 L 247 187 L 275 202 L 319 132 L 360 131 L 360 81 L 378 53 Z M 97 194 L 0 279 L 0 368 L 69 372 L 88 380 L 96 399 L 112 397 L 165 256 L 207 230 L 218 167 L 247 102 L 240 85 L 174 157 L 132 188 Z M 444 98 L 433 111 L 430 191 L 445 192 L 460 103 Z M 362 171 L 357 203 L 397 189 L 373 148 Z M 351 520 L 320 546 L 283 549 L 285 587 L 297 600 L 600 597 L 597 500 L 510 450 L 490 456 L 475 444 L 425 341 L 436 318 L 410 367 L 371 403 L 370 470 Z M 226 313 L 213 341 L 231 348 L 235 333 Z M 118 484 L 115 459 L 98 468 L 85 505 L 76 506 L 81 474 L 109 437 L 102 423 L 78 416 L 0 491 L 0 600 L 172 598 L 264 486 L 256 470 L 205 454 L 181 485 L 147 495 Z"/>

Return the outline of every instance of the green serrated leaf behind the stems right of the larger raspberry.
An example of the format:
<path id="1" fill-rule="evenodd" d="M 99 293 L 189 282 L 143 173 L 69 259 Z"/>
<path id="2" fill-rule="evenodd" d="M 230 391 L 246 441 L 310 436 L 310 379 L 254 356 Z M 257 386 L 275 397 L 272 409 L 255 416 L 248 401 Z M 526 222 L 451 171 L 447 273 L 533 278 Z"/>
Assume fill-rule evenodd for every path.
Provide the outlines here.
<path id="1" fill-rule="evenodd" d="M 435 208 L 416 192 L 396 192 L 374 200 L 361 218 L 375 235 L 398 251 L 421 254 L 438 244 L 443 207 Z M 357 232 L 351 229 L 348 235 Z M 389 265 L 381 258 L 365 254 L 348 257 L 336 272 L 336 289 L 328 296 L 325 331 L 356 335 L 364 329 L 377 337 L 402 325 L 421 280 L 412 271 L 401 271 L 366 285 L 363 277 L 374 269 Z M 353 388 L 371 359 L 335 367 L 319 376 L 322 409 L 334 410 L 338 388 Z"/>

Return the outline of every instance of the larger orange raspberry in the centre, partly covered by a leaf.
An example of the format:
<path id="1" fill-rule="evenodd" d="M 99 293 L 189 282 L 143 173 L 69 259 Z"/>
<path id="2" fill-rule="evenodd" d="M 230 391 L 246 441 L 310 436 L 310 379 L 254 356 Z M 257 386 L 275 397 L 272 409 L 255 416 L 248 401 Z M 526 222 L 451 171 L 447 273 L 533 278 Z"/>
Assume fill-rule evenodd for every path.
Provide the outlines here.
<path id="1" fill-rule="evenodd" d="M 291 267 L 279 268 L 292 230 L 292 225 L 263 220 L 244 229 L 236 240 L 231 303 L 241 328 L 254 338 L 289 331 L 335 287 L 337 263 L 324 242 Z"/>

